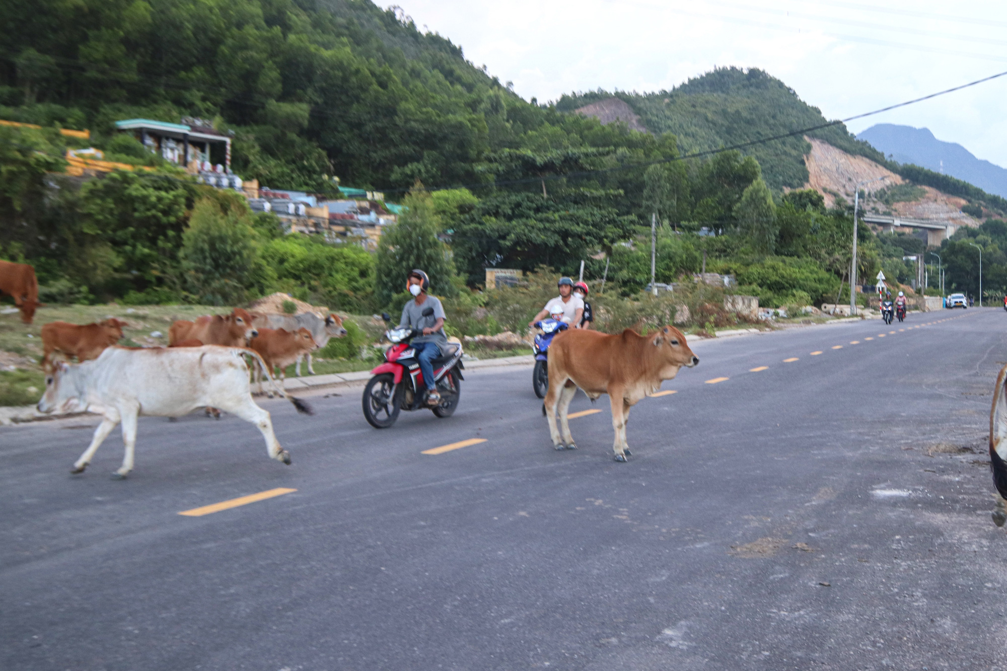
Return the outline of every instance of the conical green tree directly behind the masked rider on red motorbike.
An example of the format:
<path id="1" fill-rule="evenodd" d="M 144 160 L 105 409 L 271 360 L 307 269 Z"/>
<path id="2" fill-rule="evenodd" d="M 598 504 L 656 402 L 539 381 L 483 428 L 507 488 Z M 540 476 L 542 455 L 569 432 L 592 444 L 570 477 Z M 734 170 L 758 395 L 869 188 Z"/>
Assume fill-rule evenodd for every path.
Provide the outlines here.
<path id="1" fill-rule="evenodd" d="M 405 290 L 406 277 L 419 268 L 430 277 L 430 293 L 450 296 L 455 293 L 451 278 L 454 264 L 437 237 L 440 218 L 433 198 L 422 184 L 417 184 L 403 200 L 406 211 L 389 226 L 378 243 L 375 257 L 375 296 L 379 305 L 388 305 Z"/>

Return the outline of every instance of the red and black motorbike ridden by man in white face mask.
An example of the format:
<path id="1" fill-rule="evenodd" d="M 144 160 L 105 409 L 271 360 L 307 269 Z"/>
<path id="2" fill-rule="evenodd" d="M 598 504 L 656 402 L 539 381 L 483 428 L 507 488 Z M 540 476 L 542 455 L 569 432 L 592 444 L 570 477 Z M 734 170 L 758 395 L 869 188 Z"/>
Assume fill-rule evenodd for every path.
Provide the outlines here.
<path id="1" fill-rule="evenodd" d="M 433 314 L 433 308 L 428 307 L 423 315 Z M 391 322 L 388 313 L 382 314 L 385 321 Z M 427 385 L 423 381 L 420 362 L 416 358 L 416 349 L 410 342 L 422 331 L 415 328 L 391 328 L 385 331 L 385 338 L 392 344 L 385 351 L 385 363 L 373 371 L 374 377 L 364 388 L 364 416 L 375 428 L 388 428 L 399 418 L 402 410 L 433 410 L 438 417 L 450 417 L 458 407 L 461 395 L 461 346 L 448 343 L 441 356 L 434 359 L 434 380 L 441 401 L 437 405 L 426 404 Z"/>

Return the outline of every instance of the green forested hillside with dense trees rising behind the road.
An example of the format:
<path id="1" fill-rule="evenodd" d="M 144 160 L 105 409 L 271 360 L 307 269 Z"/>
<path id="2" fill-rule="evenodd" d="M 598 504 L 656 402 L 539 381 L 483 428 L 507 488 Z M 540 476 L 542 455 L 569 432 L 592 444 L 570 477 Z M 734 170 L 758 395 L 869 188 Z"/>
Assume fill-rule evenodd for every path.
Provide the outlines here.
<path id="1" fill-rule="evenodd" d="M 604 92 L 524 101 L 450 40 L 368 1 L 41 0 L 0 3 L 0 21 L 17 26 L 0 47 L 0 119 L 43 126 L 0 127 L 0 257 L 32 263 L 51 302 L 225 304 L 282 290 L 370 312 L 401 298 L 404 273 L 422 266 L 437 269 L 436 291 L 471 307 L 465 285 L 486 267 L 572 274 L 582 260 L 588 279 L 607 268 L 608 290 L 633 298 L 650 280 L 652 215 L 660 282 L 705 263 L 764 305 L 835 300 L 848 282 L 849 210 L 782 192 L 807 179 L 803 138 L 672 160 L 824 121 L 757 70 L 617 94 L 642 133 L 571 113 Z M 189 115 L 234 132 L 243 177 L 335 195 L 338 176 L 408 210 L 377 254 L 283 236 L 274 216 L 114 135 L 118 119 Z M 88 128 L 108 157 L 153 171 L 60 175 L 78 140 L 53 126 Z M 883 160 L 842 126 L 814 136 Z M 910 168 L 930 178 L 899 167 Z M 860 235 L 861 277 L 914 276 L 901 257 L 919 241 Z"/>

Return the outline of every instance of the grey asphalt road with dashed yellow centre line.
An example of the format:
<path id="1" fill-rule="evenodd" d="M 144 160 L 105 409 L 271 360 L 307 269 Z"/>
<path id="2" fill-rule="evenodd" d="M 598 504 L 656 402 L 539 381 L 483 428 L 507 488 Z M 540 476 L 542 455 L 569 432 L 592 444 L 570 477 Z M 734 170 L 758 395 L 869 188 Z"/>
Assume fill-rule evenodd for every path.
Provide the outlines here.
<path id="1" fill-rule="evenodd" d="M 263 401 L 291 466 L 234 417 L 141 419 L 122 482 L 118 433 L 68 473 L 91 418 L 2 428 L 0 668 L 1003 668 L 1005 323 L 699 343 L 633 409 L 628 463 L 606 397 L 578 394 L 600 412 L 552 449 L 529 367 L 382 431 L 359 388 L 314 417 Z M 276 488 L 296 492 L 178 514 Z"/>

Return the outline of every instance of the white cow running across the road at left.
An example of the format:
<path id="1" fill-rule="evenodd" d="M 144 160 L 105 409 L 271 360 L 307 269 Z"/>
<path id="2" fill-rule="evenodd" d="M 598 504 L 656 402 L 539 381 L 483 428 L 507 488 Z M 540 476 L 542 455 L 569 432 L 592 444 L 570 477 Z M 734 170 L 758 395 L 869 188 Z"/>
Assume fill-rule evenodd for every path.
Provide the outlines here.
<path id="1" fill-rule="evenodd" d="M 125 478 L 133 469 L 138 415 L 178 417 L 196 408 L 211 406 L 252 422 L 266 438 L 266 451 L 274 459 L 290 463 L 290 453 L 273 433 L 269 413 L 252 400 L 245 356 L 253 357 L 280 396 L 286 396 L 252 350 L 206 345 L 201 348 L 132 349 L 111 347 L 96 360 L 83 364 L 60 364 L 45 379 L 45 394 L 39 412 L 91 411 L 104 417 L 95 436 L 70 473 L 83 473 L 116 424 L 123 424 L 126 454 L 122 467 L 113 474 Z M 288 397 L 298 411 L 311 408 Z"/>

